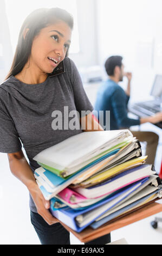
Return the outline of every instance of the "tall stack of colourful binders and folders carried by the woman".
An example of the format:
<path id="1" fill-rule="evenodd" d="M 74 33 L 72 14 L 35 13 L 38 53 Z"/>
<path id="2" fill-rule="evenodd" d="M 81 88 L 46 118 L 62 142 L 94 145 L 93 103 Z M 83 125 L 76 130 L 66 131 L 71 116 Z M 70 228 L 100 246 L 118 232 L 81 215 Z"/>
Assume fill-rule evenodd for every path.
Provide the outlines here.
<path id="1" fill-rule="evenodd" d="M 82 132 L 37 154 L 34 175 L 51 214 L 80 232 L 162 196 L 146 159 L 129 130 Z"/>

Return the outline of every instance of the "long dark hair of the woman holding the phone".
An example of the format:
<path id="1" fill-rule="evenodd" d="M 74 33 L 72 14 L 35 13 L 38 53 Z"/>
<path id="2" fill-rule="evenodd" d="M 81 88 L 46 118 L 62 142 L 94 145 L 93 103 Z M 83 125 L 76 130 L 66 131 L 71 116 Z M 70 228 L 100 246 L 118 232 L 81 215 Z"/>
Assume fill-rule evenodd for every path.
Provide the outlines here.
<path id="1" fill-rule="evenodd" d="M 18 36 L 17 47 L 11 69 L 7 77 L 5 77 L 5 80 L 7 80 L 10 76 L 17 75 L 22 71 L 24 65 L 27 63 L 30 57 L 33 40 L 35 36 L 40 33 L 41 29 L 59 20 L 66 22 L 67 25 L 73 29 L 74 22 L 72 15 L 70 15 L 66 10 L 60 8 L 36 9 L 27 16 Z M 23 32 L 26 28 L 29 28 L 29 31 L 27 32 L 24 40 Z M 66 56 L 67 55 L 68 52 Z"/>

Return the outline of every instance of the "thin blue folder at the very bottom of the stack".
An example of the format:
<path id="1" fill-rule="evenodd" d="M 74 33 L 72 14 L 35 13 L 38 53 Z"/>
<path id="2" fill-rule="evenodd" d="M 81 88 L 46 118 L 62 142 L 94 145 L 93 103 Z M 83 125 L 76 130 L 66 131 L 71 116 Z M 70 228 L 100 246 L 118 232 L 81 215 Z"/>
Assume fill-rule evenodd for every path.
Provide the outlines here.
<path id="1" fill-rule="evenodd" d="M 159 189 L 155 190 L 154 192 L 148 194 L 145 197 L 138 199 L 137 201 L 133 202 L 132 204 L 129 204 L 129 205 L 125 206 L 124 208 L 122 208 L 116 212 L 113 212 L 113 214 L 110 214 L 110 215 L 106 216 L 105 218 L 102 218 L 102 220 L 96 221 L 96 222 L 90 224 L 90 227 L 92 227 L 93 229 L 99 228 L 101 225 L 105 224 L 106 222 L 111 221 L 115 217 L 118 217 L 120 214 L 122 214 L 122 212 L 125 212 L 129 209 L 131 210 L 131 208 L 133 208 L 135 205 L 144 202 L 147 198 L 151 197 L 155 193 L 158 193 L 159 191 L 160 191 Z"/>

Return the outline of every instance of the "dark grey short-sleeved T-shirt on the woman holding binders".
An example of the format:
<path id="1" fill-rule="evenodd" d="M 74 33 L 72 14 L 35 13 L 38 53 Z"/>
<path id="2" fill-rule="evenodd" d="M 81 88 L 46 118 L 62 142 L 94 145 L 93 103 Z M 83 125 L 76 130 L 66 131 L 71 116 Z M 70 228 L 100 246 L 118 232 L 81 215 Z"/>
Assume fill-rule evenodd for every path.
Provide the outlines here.
<path id="1" fill-rule="evenodd" d="M 54 130 L 53 111 L 61 111 L 63 116 L 64 106 L 68 112 L 93 111 L 74 62 L 66 58 L 64 66 L 64 74 L 43 83 L 25 84 L 11 76 L 0 86 L 0 152 L 15 153 L 23 145 L 33 172 L 40 167 L 33 160 L 35 155 L 82 132 L 81 127 L 64 130 L 64 125 L 62 130 Z M 30 209 L 36 212 L 31 196 Z"/>

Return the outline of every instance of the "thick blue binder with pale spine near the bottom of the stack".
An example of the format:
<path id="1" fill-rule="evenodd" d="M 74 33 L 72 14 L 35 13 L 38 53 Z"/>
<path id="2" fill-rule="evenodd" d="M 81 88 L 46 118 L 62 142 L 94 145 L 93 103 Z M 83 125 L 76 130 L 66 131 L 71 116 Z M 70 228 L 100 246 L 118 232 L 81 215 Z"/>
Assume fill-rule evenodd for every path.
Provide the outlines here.
<path id="1" fill-rule="evenodd" d="M 122 190 L 120 190 L 120 192 L 116 192 L 112 197 L 107 198 L 106 200 L 103 200 L 102 202 L 99 202 L 95 205 L 91 205 L 89 208 L 84 209 L 84 210 L 73 210 L 69 207 L 64 208 L 64 209 L 60 209 L 55 211 L 55 209 L 53 209 L 53 199 L 51 199 L 51 206 L 50 206 L 50 212 L 53 216 L 55 216 L 56 218 L 58 218 L 61 222 L 63 222 L 64 224 L 68 225 L 68 227 L 72 228 L 73 230 L 77 231 L 78 233 L 80 233 L 83 229 L 85 229 L 89 224 L 91 224 L 92 222 L 94 222 L 94 220 L 98 217 L 100 217 L 102 214 L 104 214 L 108 209 L 111 209 L 112 207 L 114 207 L 116 204 L 118 204 L 121 200 L 123 200 L 125 197 L 127 197 L 130 193 L 132 193 L 135 189 L 137 189 L 139 186 L 142 185 L 143 182 L 145 182 L 148 178 L 145 179 L 141 179 L 140 181 L 134 182 L 134 184 L 131 184 L 125 188 L 123 188 Z M 138 187 L 137 184 L 139 185 Z M 132 188 L 134 188 L 133 191 L 129 192 L 130 190 L 132 190 Z M 79 227 L 79 225 L 77 225 L 77 222 L 75 221 L 76 216 L 78 215 L 82 215 L 85 214 L 88 211 L 91 211 L 95 208 L 100 207 L 103 204 L 106 204 L 108 202 L 111 202 L 111 200 L 121 196 L 123 193 L 127 192 L 127 195 L 123 198 L 120 198 L 119 201 L 117 200 L 111 207 L 109 207 L 108 209 L 106 209 L 105 211 L 101 212 L 98 216 L 95 216 L 95 218 L 93 218 L 92 215 L 92 220 L 90 222 L 88 222 L 86 225 L 84 225 L 83 227 Z"/>

